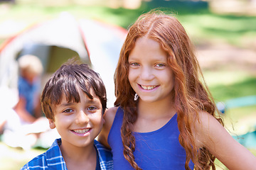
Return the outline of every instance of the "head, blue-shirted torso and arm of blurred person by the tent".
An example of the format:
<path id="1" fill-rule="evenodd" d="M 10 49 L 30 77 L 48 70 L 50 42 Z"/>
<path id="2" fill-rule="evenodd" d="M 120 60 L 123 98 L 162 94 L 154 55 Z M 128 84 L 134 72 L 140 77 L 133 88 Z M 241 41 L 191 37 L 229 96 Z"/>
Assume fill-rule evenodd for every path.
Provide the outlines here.
<path id="1" fill-rule="evenodd" d="M 18 77 L 19 99 L 14 111 L 24 123 L 34 123 L 41 118 L 40 105 L 41 74 L 43 65 L 34 55 L 23 55 L 18 58 L 20 76 Z"/>

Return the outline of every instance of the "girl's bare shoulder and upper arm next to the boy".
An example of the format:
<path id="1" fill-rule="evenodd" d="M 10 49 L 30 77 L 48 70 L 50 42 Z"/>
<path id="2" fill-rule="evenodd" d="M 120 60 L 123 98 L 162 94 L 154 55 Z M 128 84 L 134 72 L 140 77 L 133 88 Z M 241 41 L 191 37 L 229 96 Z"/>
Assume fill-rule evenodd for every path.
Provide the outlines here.
<path id="1" fill-rule="evenodd" d="M 109 149 L 111 149 L 111 148 L 110 148 L 110 145 L 107 142 L 107 137 L 110 133 L 110 129 L 111 129 L 112 124 L 114 122 L 114 116 L 115 116 L 116 112 L 117 112 L 117 107 L 107 109 L 107 111 L 103 115 L 105 123 L 103 125 L 103 128 L 102 128 L 99 136 L 98 136 L 98 141 L 100 143 L 102 143 L 102 145 L 104 145 L 105 147 L 107 147 Z"/>

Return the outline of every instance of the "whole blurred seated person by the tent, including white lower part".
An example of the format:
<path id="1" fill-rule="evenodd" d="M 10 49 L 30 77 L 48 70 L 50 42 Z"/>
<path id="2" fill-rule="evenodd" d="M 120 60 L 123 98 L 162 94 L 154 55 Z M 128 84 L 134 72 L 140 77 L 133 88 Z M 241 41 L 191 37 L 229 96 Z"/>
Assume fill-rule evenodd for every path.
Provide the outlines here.
<path id="1" fill-rule="evenodd" d="M 40 103 L 43 65 L 38 57 L 23 55 L 18 58 L 18 69 L 18 102 L 1 119 L 2 140 L 10 147 L 30 149 L 49 130 Z"/>

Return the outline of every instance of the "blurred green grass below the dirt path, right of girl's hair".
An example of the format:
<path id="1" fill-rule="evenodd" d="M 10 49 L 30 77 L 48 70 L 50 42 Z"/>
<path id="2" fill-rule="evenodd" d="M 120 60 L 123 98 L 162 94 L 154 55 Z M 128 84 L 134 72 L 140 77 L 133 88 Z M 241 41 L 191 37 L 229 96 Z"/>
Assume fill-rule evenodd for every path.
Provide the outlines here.
<path id="1" fill-rule="evenodd" d="M 256 96 L 256 77 L 250 72 L 239 70 L 204 72 L 204 77 L 216 103 L 221 101 L 228 104 L 230 100 L 235 98 Z M 239 104 L 244 103 L 245 106 L 227 107 L 225 115 L 223 115 L 226 127 L 233 132 L 233 128 L 239 129 L 239 127 L 234 127 L 238 122 L 245 123 L 251 117 L 256 118 L 256 104 L 246 106 L 246 99 L 241 99 L 239 102 Z"/>

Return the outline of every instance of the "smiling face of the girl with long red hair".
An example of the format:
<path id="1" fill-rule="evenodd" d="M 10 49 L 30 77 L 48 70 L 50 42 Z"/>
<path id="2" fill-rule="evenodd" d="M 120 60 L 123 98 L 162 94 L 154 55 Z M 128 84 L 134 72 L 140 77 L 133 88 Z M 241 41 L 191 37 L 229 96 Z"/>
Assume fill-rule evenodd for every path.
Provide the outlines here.
<path id="1" fill-rule="evenodd" d="M 174 89 L 174 73 L 167 63 L 167 55 L 159 42 L 138 38 L 129 55 L 129 83 L 140 100 L 171 101 Z"/>

